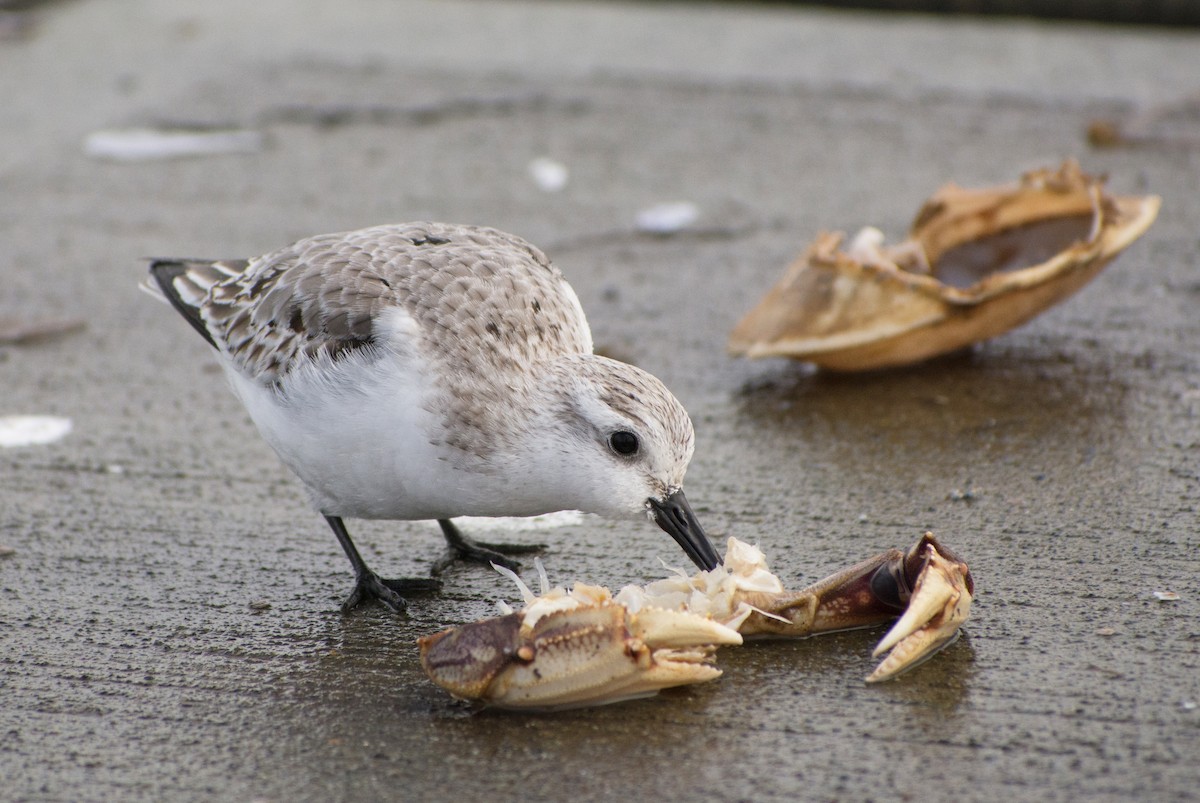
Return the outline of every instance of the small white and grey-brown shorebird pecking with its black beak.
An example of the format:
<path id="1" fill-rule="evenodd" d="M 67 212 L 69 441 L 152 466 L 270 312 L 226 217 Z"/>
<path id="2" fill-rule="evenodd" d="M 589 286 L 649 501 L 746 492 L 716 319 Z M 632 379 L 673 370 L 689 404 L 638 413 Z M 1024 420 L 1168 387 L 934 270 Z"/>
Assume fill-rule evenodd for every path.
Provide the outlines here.
<path id="1" fill-rule="evenodd" d="M 334 529 L 356 577 L 343 610 L 400 611 L 432 583 L 376 575 L 343 516 L 436 519 L 455 555 L 515 565 L 450 519 L 649 515 L 700 568 L 719 563 L 682 491 L 688 413 L 593 354 L 575 292 L 521 238 L 379 226 L 254 259 L 156 259 L 150 276 Z"/>

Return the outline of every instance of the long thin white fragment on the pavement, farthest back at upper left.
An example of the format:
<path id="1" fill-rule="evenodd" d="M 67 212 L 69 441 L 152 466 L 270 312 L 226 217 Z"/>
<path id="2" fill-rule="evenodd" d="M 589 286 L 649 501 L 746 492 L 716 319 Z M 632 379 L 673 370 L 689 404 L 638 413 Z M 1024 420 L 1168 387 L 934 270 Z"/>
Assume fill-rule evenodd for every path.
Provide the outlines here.
<path id="1" fill-rule="evenodd" d="M 113 128 L 88 134 L 83 144 L 88 156 L 115 162 L 252 154 L 262 149 L 262 133 L 240 128 Z"/>

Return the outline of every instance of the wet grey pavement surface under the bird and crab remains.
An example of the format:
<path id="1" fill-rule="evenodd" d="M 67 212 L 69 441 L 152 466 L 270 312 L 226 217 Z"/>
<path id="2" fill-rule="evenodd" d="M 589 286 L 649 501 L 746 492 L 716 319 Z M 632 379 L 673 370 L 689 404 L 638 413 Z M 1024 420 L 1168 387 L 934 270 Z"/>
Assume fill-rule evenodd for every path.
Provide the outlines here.
<path id="1" fill-rule="evenodd" d="M 359 0 L 61 2 L 0 41 L 0 798 L 1196 799 L 1200 37 L 786 7 Z M 1094 119 L 1129 146 L 1096 150 Z M 118 163 L 96 130 L 239 126 L 251 154 Z M 570 169 L 538 188 L 536 157 Z M 898 236 L 948 180 L 1076 156 L 1164 205 L 1080 295 L 970 354 L 862 377 L 724 354 L 822 228 Z M 695 227 L 640 235 L 689 200 Z M 473 713 L 415 639 L 514 597 L 455 570 L 398 618 L 349 571 L 212 354 L 136 290 L 148 256 L 240 257 L 416 218 L 563 268 L 611 354 L 691 411 L 688 490 L 790 583 L 936 531 L 967 635 L 866 687 L 878 633 L 725 651 L 716 683 Z M 416 574 L 426 523 L 355 522 Z M 486 529 L 475 525 L 475 534 Z M 654 527 L 546 541 L 560 580 L 682 563 Z M 1154 592 L 1178 594 L 1159 601 Z"/>

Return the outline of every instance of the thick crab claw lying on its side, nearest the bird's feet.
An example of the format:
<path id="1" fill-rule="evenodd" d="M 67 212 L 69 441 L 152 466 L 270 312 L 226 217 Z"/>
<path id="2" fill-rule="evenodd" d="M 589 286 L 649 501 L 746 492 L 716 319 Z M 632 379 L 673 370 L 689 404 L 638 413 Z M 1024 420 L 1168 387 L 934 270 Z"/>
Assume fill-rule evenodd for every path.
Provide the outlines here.
<path id="1" fill-rule="evenodd" d="M 526 611 L 420 640 L 421 666 L 451 695 L 499 708 L 559 709 L 620 702 L 712 681 L 733 629 L 682 611 L 631 613 L 611 600 Z"/>

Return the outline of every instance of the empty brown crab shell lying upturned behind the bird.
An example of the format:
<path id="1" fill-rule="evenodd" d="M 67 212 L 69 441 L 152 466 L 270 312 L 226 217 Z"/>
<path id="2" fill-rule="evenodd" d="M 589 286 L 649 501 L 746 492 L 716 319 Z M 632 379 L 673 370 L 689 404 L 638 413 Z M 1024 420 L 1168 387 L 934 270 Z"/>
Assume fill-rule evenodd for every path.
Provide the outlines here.
<path id="1" fill-rule="evenodd" d="M 737 325 L 730 350 L 835 371 L 995 337 L 1086 284 L 1150 228 L 1157 196 L 1110 196 L 1074 161 L 1013 185 L 938 190 L 910 239 L 854 256 L 822 233 Z"/>

